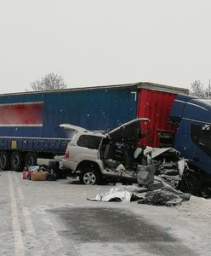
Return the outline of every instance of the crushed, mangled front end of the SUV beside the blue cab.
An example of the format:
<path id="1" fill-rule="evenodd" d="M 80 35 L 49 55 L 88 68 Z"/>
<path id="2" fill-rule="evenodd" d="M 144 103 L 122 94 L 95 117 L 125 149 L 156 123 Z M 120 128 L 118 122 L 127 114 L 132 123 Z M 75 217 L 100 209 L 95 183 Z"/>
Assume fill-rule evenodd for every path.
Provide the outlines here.
<path id="1" fill-rule="evenodd" d="M 196 180 L 186 160 L 180 157 L 179 151 L 174 148 L 146 147 L 143 155 L 147 165 L 138 166 L 137 181 L 140 185 L 144 184 L 151 188 L 155 186 L 153 178 L 162 177 L 175 189 L 189 192 L 192 195 L 198 195 L 201 192 L 200 180 Z M 151 179 L 149 179 L 150 176 Z"/>

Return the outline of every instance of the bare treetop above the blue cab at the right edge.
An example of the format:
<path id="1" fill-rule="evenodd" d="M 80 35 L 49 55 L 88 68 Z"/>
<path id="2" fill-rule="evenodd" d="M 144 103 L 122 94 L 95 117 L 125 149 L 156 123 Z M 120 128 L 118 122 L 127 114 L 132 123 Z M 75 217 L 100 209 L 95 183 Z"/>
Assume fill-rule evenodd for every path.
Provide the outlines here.
<path id="1" fill-rule="evenodd" d="M 200 80 L 196 80 L 191 84 L 190 90 L 191 96 L 197 96 L 198 98 L 208 99 L 211 98 L 210 83 L 208 87 L 204 87 Z"/>

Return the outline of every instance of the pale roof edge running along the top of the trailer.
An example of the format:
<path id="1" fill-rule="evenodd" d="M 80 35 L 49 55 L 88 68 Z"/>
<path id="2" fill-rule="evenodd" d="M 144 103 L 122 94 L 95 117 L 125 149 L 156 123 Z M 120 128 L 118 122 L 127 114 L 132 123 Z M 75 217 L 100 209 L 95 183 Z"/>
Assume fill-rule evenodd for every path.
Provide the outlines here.
<path id="1" fill-rule="evenodd" d="M 68 91 L 84 91 L 84 90 L 112 90 L 118 88 L 131 88 L 134 90 L 137 89 L 148 89 L 148 90 L 157 90 L 168 93 L 175 94 L 189 94 L 189 90 L 181 87 L 175 87 L 164 84 L 156 84 L 150 82 L 139 82 L 133 84 L 110 84 L 110 85 L 98 85 L 98 86 L 87 86 L 87 87 L 78 87 L 78 88 L 67 88 L 62 90 L 39 90 L 39 91 L 24 91 L 24 92 L 14 92 L 14 93 L 5 93 L 0 96 L 8 95 L 27 95 L 27 94 L 42 94 L 42 93 L 55 93 L 55 92 L 68 92 Z"/>

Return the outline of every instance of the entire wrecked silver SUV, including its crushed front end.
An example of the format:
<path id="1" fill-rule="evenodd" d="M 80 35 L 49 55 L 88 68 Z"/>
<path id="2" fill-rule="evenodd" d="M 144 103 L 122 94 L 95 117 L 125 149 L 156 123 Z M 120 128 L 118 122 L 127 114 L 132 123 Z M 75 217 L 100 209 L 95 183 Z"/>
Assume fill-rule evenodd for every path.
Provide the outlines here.
<path id="1" fill-rule="evenodd" d="M 107 179 L 152 186 L 154 176 L 159 176 L 174 188 L 197 195 L 198 186 L 189 179 L 191 170 L 180 159 L 180 152 L 174 148 L 137 148 L 145 137 L 141 124 L 148 121 L 133 119 L 110 132 L 60 125 L 73 132 L 62 166 L 85 184 L 99 184 Z"/>

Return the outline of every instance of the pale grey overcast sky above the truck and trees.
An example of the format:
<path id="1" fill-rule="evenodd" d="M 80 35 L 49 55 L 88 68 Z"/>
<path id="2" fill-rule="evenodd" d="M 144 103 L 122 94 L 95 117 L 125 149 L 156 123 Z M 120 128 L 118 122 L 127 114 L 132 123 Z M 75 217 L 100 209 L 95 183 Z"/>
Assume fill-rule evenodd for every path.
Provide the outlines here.
<path id="1" fill-rule="evenodd" d="M 210 0 L 0 0 L 0 93 L 211 78 Z"/>

